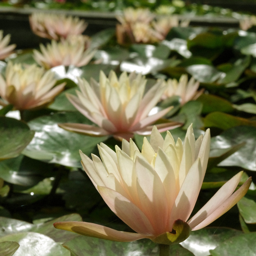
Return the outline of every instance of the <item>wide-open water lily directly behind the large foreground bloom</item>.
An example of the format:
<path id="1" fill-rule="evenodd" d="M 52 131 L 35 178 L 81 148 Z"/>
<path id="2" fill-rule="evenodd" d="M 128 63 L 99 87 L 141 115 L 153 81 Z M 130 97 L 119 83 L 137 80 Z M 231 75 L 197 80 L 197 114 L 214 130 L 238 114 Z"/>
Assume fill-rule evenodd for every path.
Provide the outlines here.
<path id="1" fill-rule="evenodd" d="M 150 134 L 151 124 L 163 117 L 172 107 L 149 115 L 161 98 L 165 85 L 159 80 L 144 95 L 147 80 L 141 74 L 123 72 L 119 79 L 114 71 L 107 77 L 100 71 L 100 82 L 91 79 L 91 85 L 78 78 L 81 92 L 67 94 L 68 100 L 98 127 L 88 124 L 59 124 L 60 127 L 93 136 L 113 135 L 117 139 L 129 140 L 133 133 Z M 158 124 L 162 131 L 180 126 L 177 122 Z"/>

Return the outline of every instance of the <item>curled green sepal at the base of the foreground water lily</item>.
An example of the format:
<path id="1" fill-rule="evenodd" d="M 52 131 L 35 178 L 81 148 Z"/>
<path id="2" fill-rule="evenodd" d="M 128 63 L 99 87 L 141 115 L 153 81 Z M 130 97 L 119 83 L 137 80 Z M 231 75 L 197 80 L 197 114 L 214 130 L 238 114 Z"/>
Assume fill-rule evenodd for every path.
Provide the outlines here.
<path id="1" fill-rule="evenodd" d="M 190 232 L 191 228 L 188 223 L 178 219 L 174 221 L 172 231 L 163 233 L 151 240 L 158 244 L 179 244 L 188 238 Z"/>

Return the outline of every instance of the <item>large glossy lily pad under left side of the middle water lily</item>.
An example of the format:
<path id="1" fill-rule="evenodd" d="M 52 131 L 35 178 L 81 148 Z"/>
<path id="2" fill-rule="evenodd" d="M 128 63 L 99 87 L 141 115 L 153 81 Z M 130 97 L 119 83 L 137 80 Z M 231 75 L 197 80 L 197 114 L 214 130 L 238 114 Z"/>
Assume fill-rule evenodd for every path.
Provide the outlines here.
<path id="1" fill-rule="evenodd" d="M 92 124 L 80 112 L 55 113 L 38 117 L 28 123 L 36 133 L 23 154 L 48 163 L 81 167 L 79 149 L 84 154 L 90 155 L 97 148 L 97 144 L 107 138 L 68 132 L 60 128 L 58 123 Z"/>

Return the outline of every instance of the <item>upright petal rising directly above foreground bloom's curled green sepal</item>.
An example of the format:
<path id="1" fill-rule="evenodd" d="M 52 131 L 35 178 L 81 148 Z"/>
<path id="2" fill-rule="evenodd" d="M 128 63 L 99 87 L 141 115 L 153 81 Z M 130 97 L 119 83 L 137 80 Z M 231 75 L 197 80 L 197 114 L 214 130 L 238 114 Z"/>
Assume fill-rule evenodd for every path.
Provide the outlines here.
<path id="1" fill-rule="evenodd" d="M 202 176 L 202 165 L 200 159 L 191 166 L 181 188 L 170 215 L 170 224 L 177 219 L 187 221 L 190 216 L 200 192 L 204 176 Z M 170 227 L 171 228 L 171 227 Z"/>

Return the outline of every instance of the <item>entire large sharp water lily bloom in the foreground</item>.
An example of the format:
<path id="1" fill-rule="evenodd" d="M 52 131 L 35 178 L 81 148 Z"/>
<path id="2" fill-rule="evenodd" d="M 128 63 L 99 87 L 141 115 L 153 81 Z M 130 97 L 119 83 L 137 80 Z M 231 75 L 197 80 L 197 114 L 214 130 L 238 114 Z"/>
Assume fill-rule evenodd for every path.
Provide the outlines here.
<path id="1" fill-rule="evenodd" d="M 180 243 L 191 230 L 227 212 L 252 182 L 249 178 L 235 191 L 242 176 L 237 173 L 191 218 L 207 167 L 209 129 L 195 140 L 190 125 L 182 144 L 180 139 L 175 143 L 169 131 L 163 139 L 154 127 L 141 152 L 132 139 L 123 140 L 116 152 L 103 143 L 98 149 L 101 160 L 80 152 L 84 170 L 108 207 L 137 233 L 80 221 L 56 222 L 55 228 L 112 241 L 149 238 L 158 244 Z"/>

